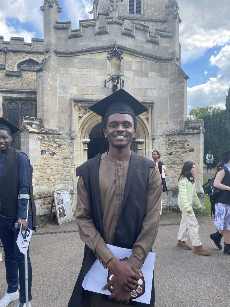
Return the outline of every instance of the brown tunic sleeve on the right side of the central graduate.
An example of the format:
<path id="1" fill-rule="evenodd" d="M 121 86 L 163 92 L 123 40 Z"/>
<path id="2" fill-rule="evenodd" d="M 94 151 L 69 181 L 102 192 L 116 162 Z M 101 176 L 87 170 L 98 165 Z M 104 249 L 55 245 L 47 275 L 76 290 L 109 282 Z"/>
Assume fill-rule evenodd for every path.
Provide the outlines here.
<path id="1" fill-rule="evenodd" d="M 156 239 L 159 226 L 162 192 L 163 188 L 159 169 L 157 167 L 151 168 L 146 192 L 145 216 L 142 222 L 141 232 L 132 247 L 132 255 L 127 260 L 138 270 L 143 266 L 143 263 Z"/>

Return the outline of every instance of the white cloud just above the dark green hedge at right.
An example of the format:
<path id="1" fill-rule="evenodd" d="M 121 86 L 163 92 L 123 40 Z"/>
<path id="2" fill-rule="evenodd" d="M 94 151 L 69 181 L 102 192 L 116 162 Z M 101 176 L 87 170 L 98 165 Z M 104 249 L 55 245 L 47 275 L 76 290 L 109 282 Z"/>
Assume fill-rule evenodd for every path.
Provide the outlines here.
<path id="1" fill-rule="evenodd" d="M 209 78 L 205 84 L 188 87 L 188 101 L 193 107 L 225 107 L 230 87 L 230 45 L 224 46 L 216 56 L 211 56 L 210 64 L 219 67 L 217 77 Z"/>

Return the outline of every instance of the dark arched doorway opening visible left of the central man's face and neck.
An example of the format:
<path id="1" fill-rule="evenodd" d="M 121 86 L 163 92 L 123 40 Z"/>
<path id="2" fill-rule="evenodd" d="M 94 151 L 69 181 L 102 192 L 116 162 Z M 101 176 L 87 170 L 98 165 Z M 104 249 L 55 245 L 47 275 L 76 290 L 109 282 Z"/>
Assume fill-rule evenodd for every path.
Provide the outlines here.
<path id="1" fill-rule="evenodd" d="M 109 149 L 109 143 L 105 140 L 102 133 L 102 124 L 99 123 L 93 127 L 89 136 L 90 142 L 88 144 L 88 159 L 96 156 L 102 150 Z"/>

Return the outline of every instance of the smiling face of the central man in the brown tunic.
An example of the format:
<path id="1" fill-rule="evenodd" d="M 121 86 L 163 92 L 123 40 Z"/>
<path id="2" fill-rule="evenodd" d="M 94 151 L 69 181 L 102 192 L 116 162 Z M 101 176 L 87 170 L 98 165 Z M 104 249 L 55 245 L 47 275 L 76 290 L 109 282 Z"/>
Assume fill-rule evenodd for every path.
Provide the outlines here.
<path id="1" fill-rule="evenodd" d="M 114 148 L 130 147 L 136 129 L 134 129 L 132 116 L 129 114 L 114 113 L 109 115 L 104 129 L 105 138 L 109 141 L 109 146 Z"/>

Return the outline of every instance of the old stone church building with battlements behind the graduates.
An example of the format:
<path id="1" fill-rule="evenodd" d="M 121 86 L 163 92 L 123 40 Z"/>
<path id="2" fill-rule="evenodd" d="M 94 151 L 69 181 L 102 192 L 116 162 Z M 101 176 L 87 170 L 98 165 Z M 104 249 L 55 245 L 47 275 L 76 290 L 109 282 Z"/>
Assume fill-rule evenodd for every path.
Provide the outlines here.
<path id="1" fill-rule="evenodd" d="M 94 0 L 93 18 L 80 20 L 79 29 L 59 21 L 57 0 L 40 9 L 44 40 L 0 37 L 0 115 L 21 127 L 12 147 L 34 167 L 37 214 L 48 214 L 53 191 L 70 189 L 75 204 L 75 168 L 108 148 L 101 118 L 88 107 L 121 87 L 148 108 L 137 118 L 132 150 L 150 159 L 153 149 L 161 153 L 168 173 L 163 204 L 177 206 L 188 160 L 202 198 L 204 128 L 186 120 L 178 3 Z"/>

